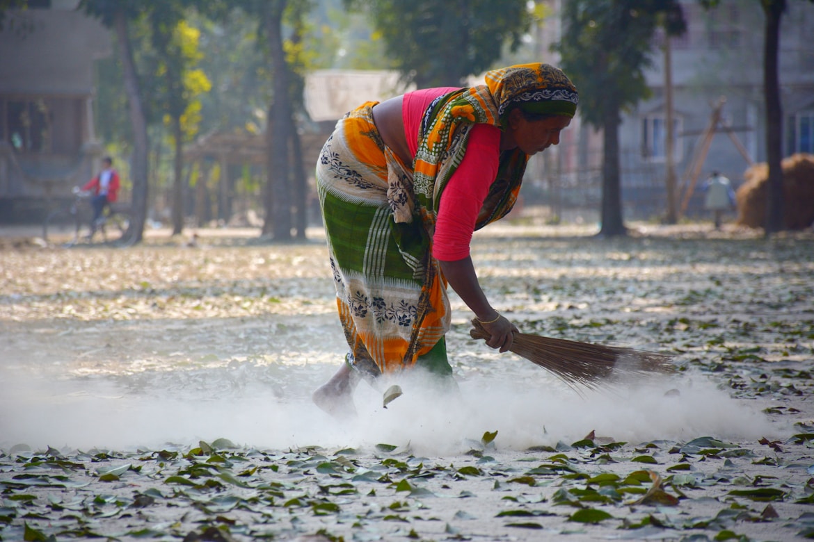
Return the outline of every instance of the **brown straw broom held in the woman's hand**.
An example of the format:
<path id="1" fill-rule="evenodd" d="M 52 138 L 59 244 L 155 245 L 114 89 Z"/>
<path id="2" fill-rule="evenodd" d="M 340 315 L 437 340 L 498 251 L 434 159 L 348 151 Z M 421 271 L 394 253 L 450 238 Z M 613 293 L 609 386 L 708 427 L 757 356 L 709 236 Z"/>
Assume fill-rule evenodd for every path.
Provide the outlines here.
<path id="1" fill-rule="evenodd" d="M 475 328 L 469 334 L 473 339 L 486 340 L 491 336 L 478 319 L 473 319 L 472 325 Z M 577 386 L 598 389 L 619 379 L 674 372 L 671 357 L 667 354 L 554 339 L 532 333 L 515 333 L 510 351 L 554 373 L 577 392 Z"/>

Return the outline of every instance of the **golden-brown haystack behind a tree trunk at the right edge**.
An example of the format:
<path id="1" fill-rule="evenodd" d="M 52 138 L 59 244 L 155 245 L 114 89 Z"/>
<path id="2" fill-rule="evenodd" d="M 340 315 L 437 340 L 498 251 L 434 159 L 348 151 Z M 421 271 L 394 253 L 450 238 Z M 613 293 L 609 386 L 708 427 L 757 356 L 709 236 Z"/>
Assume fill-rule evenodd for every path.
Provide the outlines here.
<path id="1" fill-rule="evenodd" d="M 802 230 L 814 223 L 814 154 L 793 154 L 782 161 L 783 219 L 786 228 Z M 737 189 L 737 223 L 763 228 L 768 199 L 768 165 L 755 164 Z"/>

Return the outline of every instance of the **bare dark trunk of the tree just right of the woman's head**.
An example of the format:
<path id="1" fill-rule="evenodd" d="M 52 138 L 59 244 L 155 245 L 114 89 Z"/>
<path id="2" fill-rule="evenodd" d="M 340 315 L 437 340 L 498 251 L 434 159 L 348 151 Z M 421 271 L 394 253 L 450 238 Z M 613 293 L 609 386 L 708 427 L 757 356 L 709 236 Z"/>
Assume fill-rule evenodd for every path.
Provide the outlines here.
<path id="1" fill-rule="evenodd" d="M 602 228 L 603 237 L 627 233 L 622 220 L 622 191 L 619 182 L 619 107 L 609 104 L 602 123 Z"/>

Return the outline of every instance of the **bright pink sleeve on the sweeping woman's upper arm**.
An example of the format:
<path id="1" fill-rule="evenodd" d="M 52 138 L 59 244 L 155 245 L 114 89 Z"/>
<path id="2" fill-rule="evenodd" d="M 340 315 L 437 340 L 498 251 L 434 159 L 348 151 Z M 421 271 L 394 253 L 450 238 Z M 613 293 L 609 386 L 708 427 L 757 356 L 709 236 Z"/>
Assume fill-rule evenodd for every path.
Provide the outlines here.
<path id="1" fill-rule="evenodd" d="M 455 262 L 469 256 L 478 213 L 497 178 L 500 143 L 500 129 L 487 124 L 472 128 L 461 165 L 441 193 L 432 237 L 435 259 Z"/>

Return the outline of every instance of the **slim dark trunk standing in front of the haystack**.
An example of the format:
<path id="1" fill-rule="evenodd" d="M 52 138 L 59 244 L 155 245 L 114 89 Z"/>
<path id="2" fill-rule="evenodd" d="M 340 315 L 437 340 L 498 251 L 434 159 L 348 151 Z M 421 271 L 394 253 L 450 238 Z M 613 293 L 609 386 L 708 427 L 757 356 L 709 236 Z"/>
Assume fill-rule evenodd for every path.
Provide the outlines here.
<path id="1" fill-rule="evenodd" d="M 777 75 L 780 46 L 780 19 L 786 0 L 762 2 L 766 13 L 764 37 L 764 93 L 766 95 L 766 154 L 768 162 L 768 197 L 766 198 L 766 235 L 785 229 L 783 221 L 783 110 L 780 81 Z"/>

